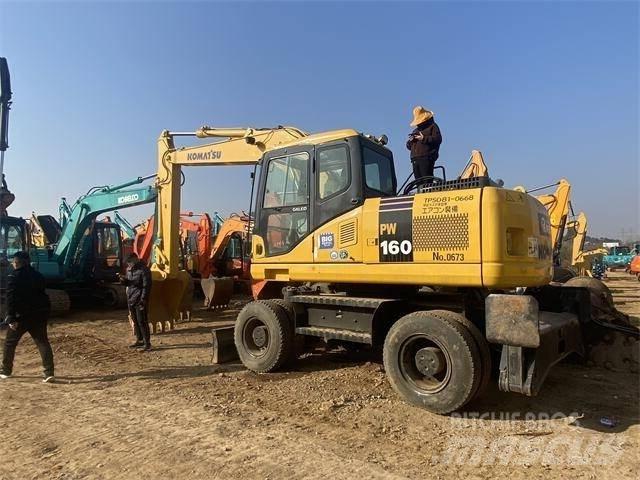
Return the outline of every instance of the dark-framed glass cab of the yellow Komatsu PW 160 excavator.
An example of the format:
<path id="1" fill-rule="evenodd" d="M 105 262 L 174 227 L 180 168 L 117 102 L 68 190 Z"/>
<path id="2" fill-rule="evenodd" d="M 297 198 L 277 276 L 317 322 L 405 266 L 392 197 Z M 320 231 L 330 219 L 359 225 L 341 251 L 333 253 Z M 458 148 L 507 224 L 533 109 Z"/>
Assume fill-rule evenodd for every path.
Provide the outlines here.
<path id="1" fill-rule="evenodd" d="M 393 155 L 380 140 L 345 135 L 273 150 L 262 161 L 255 232 L 266 257 L 282 255 L 328 220 L 366 198 L 395 196 L 396 188 Z"/>

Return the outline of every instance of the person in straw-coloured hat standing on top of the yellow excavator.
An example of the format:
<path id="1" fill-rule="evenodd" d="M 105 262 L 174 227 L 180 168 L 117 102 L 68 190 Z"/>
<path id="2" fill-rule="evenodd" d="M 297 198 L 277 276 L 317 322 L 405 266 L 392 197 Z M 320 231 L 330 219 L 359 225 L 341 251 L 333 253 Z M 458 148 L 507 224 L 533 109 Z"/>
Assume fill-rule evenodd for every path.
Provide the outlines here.
<path id="1" fill-rule="evenodd" d="M 413 176 L 416 180 L 433 177 L 433 166 L 438 159 L 442 143 L 440 128 L 433 120 L 433 112 L 424 107 L 415 107 L 411 126 L 415 129 L 409 134 L 407 149 L 411 150 Z M 425 179 L 423 183 L 432 183 L 432 179 Z"/>

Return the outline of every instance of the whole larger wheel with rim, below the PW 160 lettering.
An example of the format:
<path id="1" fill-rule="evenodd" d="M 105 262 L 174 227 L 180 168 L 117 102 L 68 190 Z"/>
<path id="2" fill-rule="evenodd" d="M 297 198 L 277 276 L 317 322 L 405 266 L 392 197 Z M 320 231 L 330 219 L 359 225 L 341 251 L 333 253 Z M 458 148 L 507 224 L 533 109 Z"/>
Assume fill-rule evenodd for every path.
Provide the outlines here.
<path id="1" fill-rule="evenodd" d="M 400 318 L 387 334 L 383 358 L 396 392 L 431 412 L 453 412 L 478 389 L 482 360 L 473 336 L 431 312 Z"/>

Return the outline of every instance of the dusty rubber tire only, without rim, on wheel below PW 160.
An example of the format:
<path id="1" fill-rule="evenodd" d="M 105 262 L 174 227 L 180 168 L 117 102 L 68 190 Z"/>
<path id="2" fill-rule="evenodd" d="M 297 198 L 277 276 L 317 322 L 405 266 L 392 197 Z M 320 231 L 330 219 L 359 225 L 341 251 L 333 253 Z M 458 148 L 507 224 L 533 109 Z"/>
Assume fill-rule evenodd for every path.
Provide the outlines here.
<path id="1" fill-rule="evenodd" d="M 409 336 L 426 333 L 438 338 L 455 355 L 448 385 L 435 394 L 423 394 L 406 382 L 398 368 L 400 345 Z M 471 332 L 460 323 L 432 315 L 429 311 L 413 312 L 400 318 L 389 330 L 384 342 L 383 362 L 393 389 L 407 402 L 434 413 L 447 414 L 468 403 L 481 375 L 480 352 Z"/>

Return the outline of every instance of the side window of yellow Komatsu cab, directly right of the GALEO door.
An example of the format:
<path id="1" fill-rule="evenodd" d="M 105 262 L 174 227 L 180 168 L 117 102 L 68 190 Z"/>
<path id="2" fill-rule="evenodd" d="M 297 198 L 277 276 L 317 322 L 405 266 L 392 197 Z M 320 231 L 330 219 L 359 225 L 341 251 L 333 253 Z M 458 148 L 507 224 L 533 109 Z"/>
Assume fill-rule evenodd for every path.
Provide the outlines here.
<path id="1" fill-rule="evenodd" d="M 349 171 L 349 151 L 346 146 L 320 148 L 316 159 L 320 200 L 342 193 L 349 188 L 351 172 Z"/>

